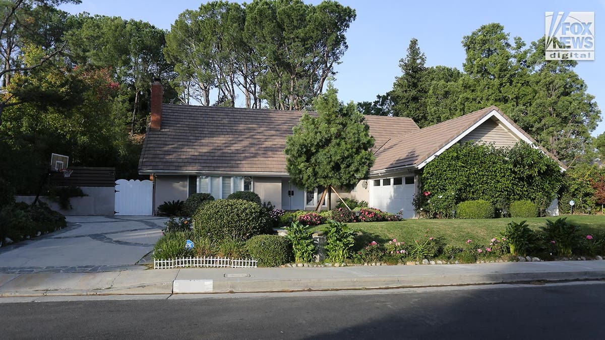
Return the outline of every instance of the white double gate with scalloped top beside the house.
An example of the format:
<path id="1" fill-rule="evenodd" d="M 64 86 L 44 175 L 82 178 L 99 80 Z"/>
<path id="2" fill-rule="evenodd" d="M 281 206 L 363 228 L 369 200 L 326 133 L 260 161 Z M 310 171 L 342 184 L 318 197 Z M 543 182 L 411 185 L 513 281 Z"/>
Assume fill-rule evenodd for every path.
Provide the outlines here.
<path id="1" fill-rule="evenodd" d="M 116 181 L 116 215 L 153 215 L 153 183 L 149 180 Z"/>

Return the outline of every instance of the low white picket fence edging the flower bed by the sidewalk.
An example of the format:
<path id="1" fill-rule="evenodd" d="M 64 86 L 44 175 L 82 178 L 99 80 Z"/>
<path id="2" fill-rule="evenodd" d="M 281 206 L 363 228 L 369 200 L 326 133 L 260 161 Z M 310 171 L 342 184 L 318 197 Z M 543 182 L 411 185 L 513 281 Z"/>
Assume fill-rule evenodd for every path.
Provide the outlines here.
<path id="1" fill-rule="evenodd" d="M 154 259 L 154 269 L 172 268 L 256 268 L 258 261 L 247 258 L 228 257 L 181 257 L 168 260 Z"/>

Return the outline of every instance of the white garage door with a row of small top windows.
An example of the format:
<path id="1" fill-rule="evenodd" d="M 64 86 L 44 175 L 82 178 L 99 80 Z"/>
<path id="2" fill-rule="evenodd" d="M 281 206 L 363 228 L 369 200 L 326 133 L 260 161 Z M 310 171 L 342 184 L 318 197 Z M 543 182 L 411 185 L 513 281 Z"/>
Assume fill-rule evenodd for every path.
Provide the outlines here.
<path id="1" fill-rule="evenodd" d="M 412 200 L 414 198 L 414 177 L 395 177 L 370 180 L 370 206 L 382 211 L 397 214 L 402 211 L 404 218 L 416 214 Z"/>

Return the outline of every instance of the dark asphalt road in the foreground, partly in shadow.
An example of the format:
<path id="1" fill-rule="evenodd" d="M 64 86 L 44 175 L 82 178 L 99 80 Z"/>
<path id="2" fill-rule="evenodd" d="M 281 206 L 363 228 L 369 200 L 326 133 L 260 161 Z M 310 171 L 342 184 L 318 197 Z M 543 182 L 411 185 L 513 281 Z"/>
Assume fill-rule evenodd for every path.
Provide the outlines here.
<path id="1" fill-rule="evenodd" d="M 603 321 L 605 283 L 0 303 L 2 339 L 605 339 Z"/>

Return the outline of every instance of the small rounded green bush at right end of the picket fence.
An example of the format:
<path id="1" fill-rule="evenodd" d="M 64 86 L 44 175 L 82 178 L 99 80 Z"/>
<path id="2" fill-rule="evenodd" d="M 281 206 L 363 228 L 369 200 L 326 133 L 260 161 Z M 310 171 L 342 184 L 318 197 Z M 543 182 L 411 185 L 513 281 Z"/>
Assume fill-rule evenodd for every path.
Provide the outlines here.
<path id="1" fill-rule="evenodd" d="M 292 244 L 278 235 L 257 235 L 246 241 L 250 256 L 260 267 L 276 267 L 292 261 Z"/>

